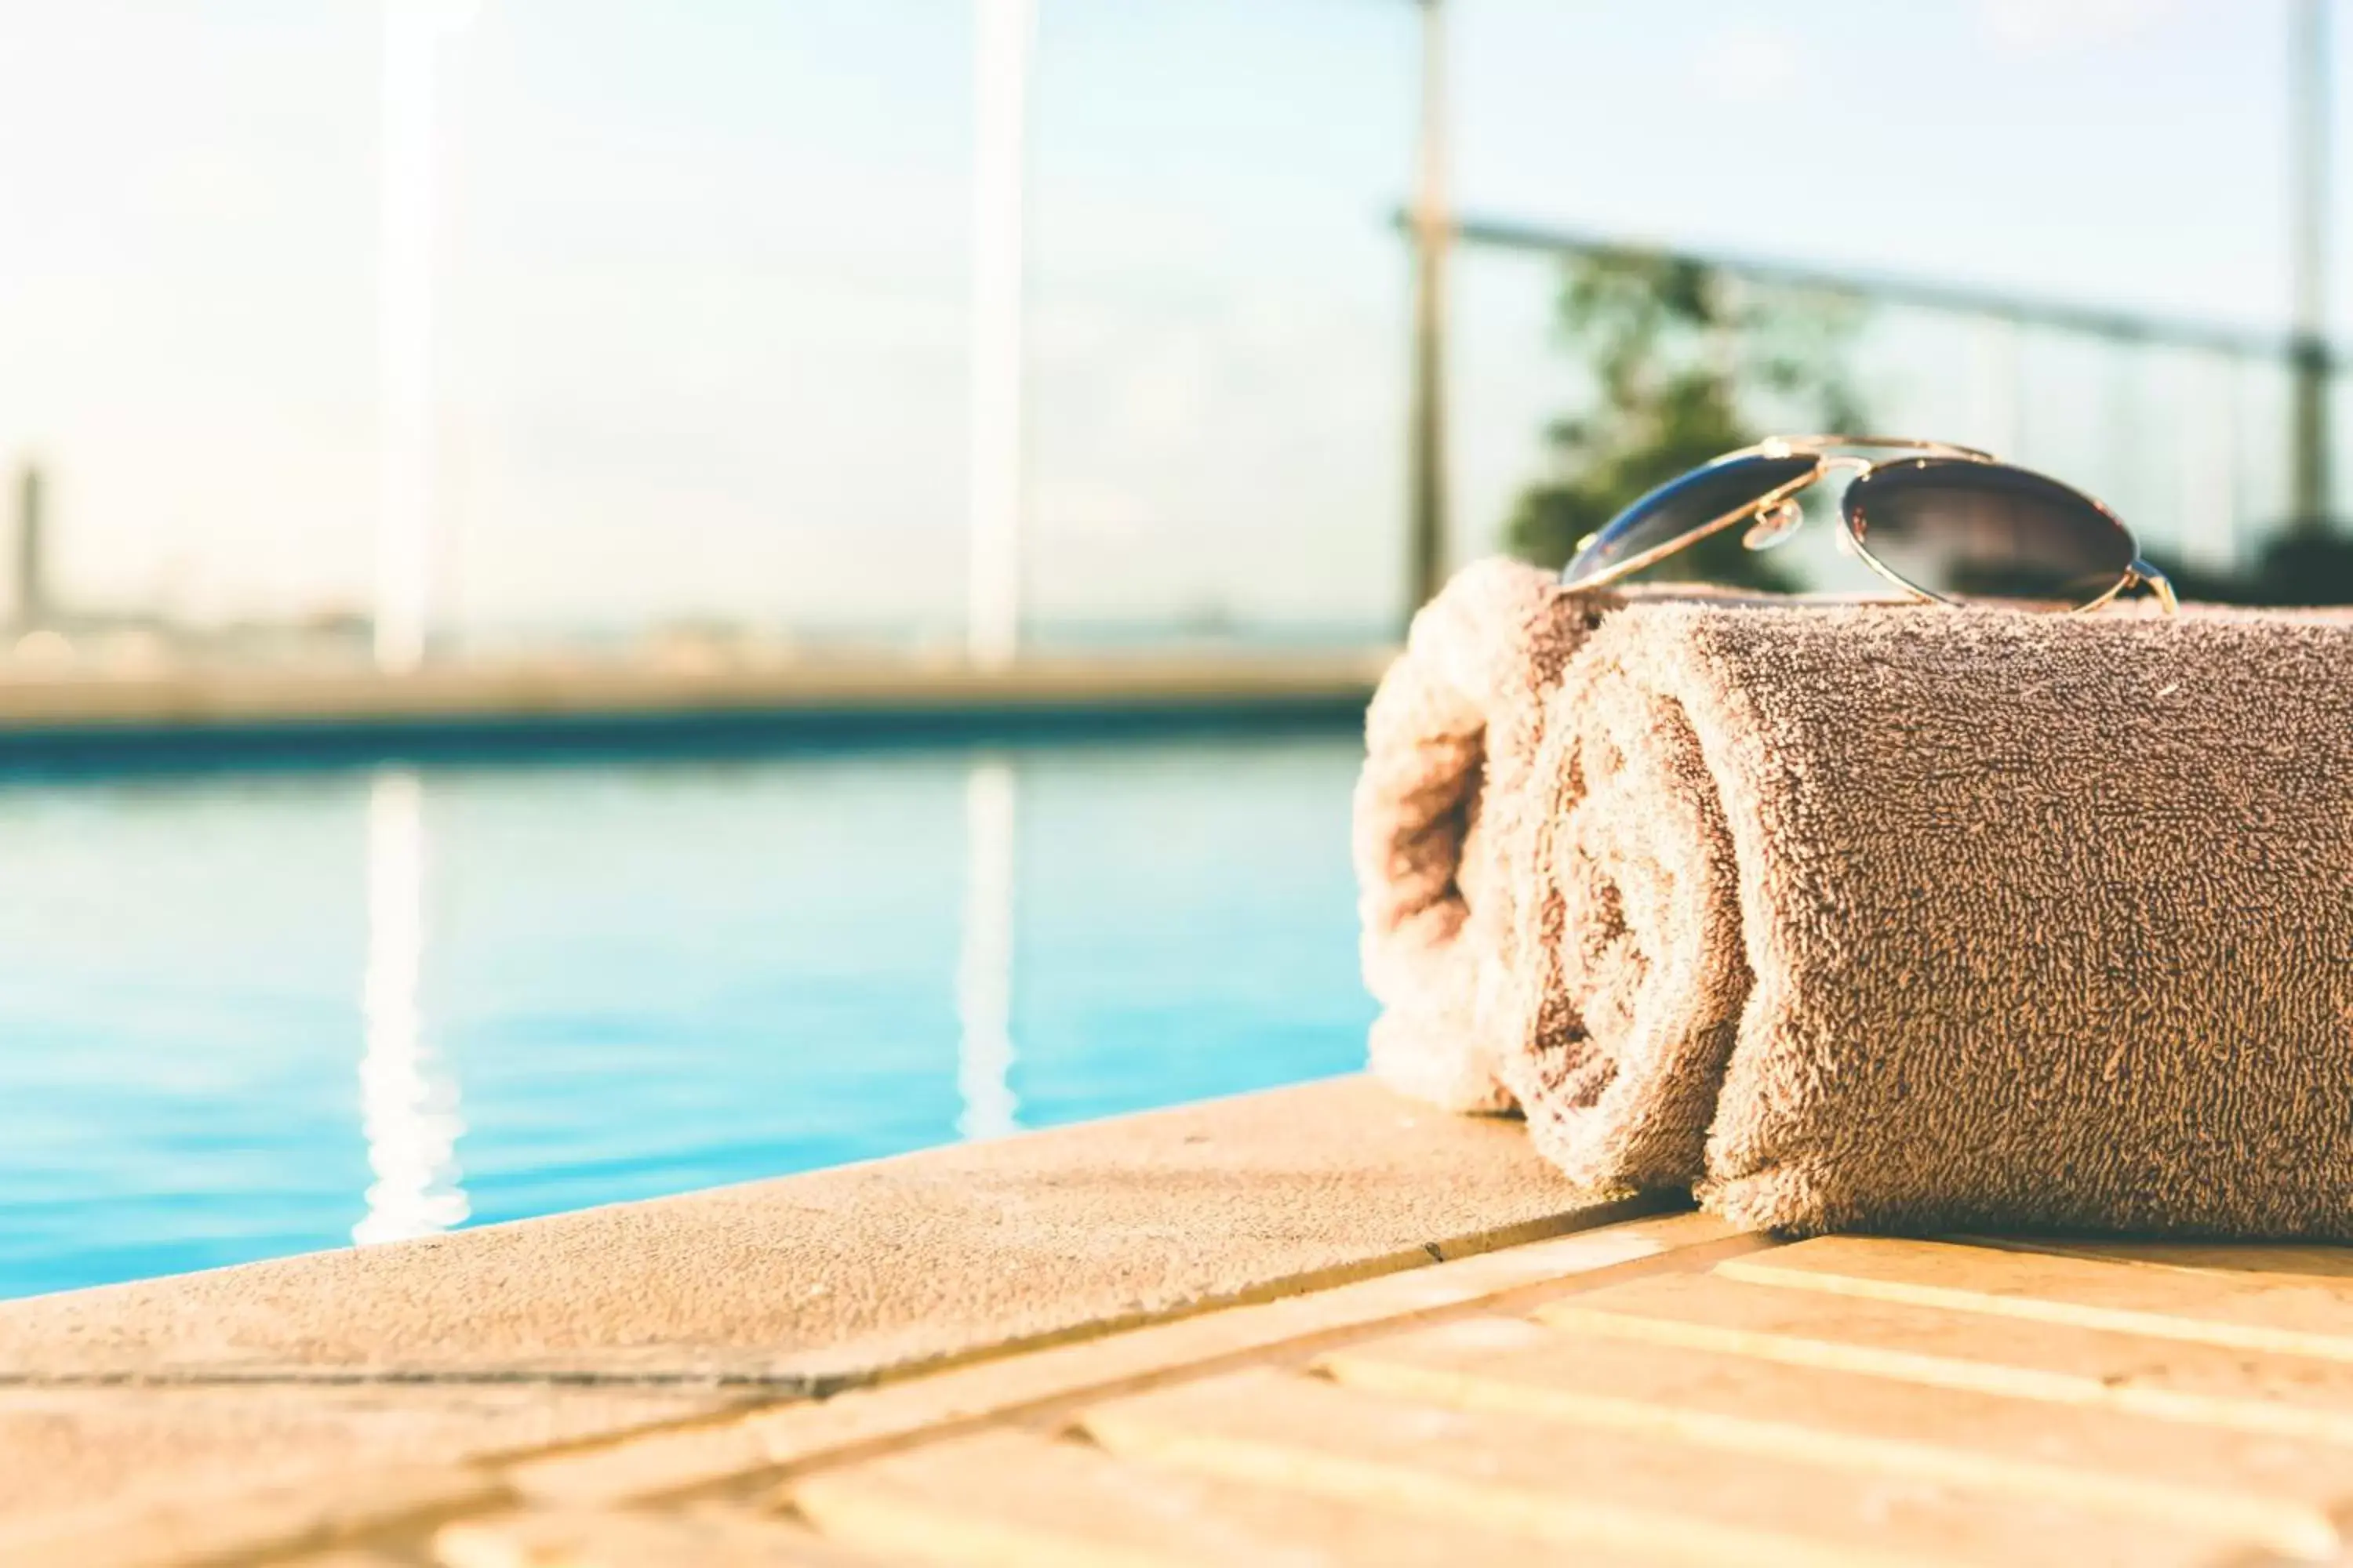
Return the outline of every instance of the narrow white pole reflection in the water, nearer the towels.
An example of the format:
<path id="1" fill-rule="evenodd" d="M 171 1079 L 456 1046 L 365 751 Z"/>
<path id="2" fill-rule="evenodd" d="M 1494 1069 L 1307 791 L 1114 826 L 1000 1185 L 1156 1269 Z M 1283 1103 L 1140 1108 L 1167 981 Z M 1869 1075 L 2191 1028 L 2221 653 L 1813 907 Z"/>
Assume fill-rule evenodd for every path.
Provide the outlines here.
<path id="1" fill-rule="evenodd" d="M 965 1138 L 1002 1138 L 1021 1105 L 1014 1065 L 1014 769 L 988 757 L 965 778 L 965 931 L 955 961 L 955 1093 Z"/>

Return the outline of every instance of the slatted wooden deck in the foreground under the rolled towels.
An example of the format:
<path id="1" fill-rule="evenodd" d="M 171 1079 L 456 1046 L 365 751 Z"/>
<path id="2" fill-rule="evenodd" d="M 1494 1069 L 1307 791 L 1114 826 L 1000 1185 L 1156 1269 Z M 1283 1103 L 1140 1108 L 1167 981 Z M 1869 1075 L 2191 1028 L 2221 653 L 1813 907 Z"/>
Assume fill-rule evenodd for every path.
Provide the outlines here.
<path id="1" fill-rule="evenodd" d="M 2348 1505 L 2353 1251 L 1666 1215 L 518 1455 L 282 1561 L 2264 1563 L 2348 1561 Z"/>

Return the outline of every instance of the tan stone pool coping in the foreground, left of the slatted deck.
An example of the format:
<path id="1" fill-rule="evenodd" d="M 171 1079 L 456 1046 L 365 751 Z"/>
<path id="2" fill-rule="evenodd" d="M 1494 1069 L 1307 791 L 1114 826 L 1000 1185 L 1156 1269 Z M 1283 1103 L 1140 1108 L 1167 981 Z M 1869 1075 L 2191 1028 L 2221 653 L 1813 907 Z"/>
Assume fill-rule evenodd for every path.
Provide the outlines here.
<path id="1" fill-rule="evenodd" d="M 0 1476 L 19 1479 L 0 1481 L 0 1559 L 292 1544 L 492 1486 L 506 1455 L 692 1432 L 1626 1213 L 1567 1187 L 1518 1124 L 1351 1077 L 5 1302 Z"/>

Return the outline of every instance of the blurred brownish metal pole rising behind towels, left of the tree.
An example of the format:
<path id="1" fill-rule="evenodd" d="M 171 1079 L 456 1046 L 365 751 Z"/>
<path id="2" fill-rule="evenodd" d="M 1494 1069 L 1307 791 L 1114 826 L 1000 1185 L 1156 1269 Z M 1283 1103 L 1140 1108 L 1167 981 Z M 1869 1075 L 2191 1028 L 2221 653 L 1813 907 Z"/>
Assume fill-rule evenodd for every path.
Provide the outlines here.
<path id="1" fill-rule="evenodd" d="M 1421 132 L 1414 179 L 1414 383 L 1407 477 L 1407 616 L 1428 604 L 1447 571 L 1447 101 L 1442 0 L 1421 5 Z"/>

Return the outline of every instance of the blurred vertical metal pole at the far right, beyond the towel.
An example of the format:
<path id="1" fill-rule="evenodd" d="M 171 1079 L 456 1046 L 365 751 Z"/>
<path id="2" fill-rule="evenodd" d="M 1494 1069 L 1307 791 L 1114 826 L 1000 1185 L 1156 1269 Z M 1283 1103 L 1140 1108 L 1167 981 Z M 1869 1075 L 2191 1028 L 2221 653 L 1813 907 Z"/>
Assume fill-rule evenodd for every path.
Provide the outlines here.
<path id="1" fill-rule="evenodd" d="M 2329 0 L 2294 0 L 2289 26 L 2294 162 L 2294 414 L 2289 527 L 2329 520 Z"/>

